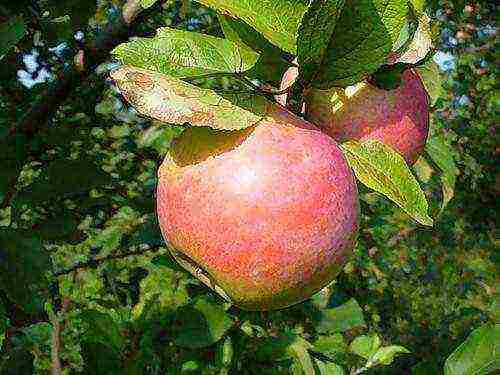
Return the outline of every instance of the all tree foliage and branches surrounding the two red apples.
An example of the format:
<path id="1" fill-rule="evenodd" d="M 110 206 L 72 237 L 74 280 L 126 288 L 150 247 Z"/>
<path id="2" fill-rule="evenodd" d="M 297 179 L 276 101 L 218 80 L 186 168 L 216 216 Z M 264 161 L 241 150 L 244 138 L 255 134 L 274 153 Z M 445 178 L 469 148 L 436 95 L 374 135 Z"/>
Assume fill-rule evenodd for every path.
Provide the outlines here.
<path id="1" fill-rule="evenodd" d="M 458 0 L 2 4 L 0 374 L 498 370 L 494 11 Z M 361 182 L 355 256 L 310 300 L 245 312 L 168 255 L 156 169 L 186 122 L 258 120 L 295 56 L 291 108 L 308 85 L 397 84 L 414 66 L 431 134 L 411 168 L 383 145 L 342 145 Z M 111 84 L 118 64 L 147 69 L 157 89 Z"/>

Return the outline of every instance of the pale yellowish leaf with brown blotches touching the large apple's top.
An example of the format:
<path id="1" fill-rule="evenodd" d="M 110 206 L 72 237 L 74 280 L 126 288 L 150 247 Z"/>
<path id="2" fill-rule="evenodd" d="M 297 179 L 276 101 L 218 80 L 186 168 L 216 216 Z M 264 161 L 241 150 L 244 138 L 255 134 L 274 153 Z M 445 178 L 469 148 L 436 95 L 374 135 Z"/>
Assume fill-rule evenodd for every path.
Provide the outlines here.
<path id="1" fill-rule="evenodd" d="M 144 69 L 123 66 L 111 77 L 124 97 L 141 114 L 170 124 L 238 130 L 256 124 L 267 110 L 263 99 L 255 112 L 247 111 L 212 90 Z"/>

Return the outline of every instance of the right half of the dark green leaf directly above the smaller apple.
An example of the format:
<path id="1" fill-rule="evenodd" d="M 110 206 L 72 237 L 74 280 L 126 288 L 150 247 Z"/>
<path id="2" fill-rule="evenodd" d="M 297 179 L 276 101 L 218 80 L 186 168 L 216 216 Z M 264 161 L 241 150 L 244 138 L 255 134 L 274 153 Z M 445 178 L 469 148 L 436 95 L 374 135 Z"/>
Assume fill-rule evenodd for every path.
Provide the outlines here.
<path id="1" fill-rule="evenodd" d="M 407 13 L 405 0 L 347 2 L 313 86 L 348 86 L 375 72 L 398 40 Z"/>

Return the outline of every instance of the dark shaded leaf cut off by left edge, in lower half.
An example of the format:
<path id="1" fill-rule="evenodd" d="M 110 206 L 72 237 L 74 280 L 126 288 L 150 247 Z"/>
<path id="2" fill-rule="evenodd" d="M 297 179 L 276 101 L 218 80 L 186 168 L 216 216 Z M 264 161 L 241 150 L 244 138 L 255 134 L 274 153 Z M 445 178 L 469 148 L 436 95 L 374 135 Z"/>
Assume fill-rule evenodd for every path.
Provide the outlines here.
<path id="1" fill-rule="evenodd" d="M 43 312 L 50 259 L 29 232 L 0 230 L 0 289 L 27 313 Z"/>

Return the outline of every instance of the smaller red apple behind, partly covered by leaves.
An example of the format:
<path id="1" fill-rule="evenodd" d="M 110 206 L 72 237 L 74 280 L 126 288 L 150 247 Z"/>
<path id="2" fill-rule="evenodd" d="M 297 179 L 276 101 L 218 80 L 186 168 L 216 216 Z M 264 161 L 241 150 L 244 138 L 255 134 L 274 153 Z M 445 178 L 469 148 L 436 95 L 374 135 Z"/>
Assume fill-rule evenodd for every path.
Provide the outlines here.
<path id="1" fill-rule="evenodd" d="M 292 67 L 281 88 L 298 75 Z M 429 132 L 429 98 L 420 77 L 407 69 L 396 89 L 384 90 L 363 81 L 345 89 L 309 89 L 304 93 L 306 118 L 337 142 L 378 140 L 399 152 L 409 165 L 423 152 Z M 286 94 L 277 97 L 286 101 Z"/>

